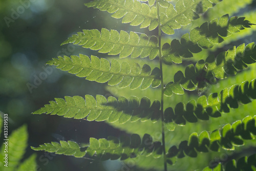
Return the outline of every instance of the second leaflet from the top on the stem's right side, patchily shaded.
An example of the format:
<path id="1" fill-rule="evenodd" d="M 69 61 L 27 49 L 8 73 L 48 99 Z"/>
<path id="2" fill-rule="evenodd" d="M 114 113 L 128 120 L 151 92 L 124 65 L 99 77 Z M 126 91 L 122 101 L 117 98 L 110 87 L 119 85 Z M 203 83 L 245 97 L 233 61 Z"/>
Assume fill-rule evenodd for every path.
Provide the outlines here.
<path id="1" fill-rule="evenodd" d="M 224 39 L 222 37 L 230 36 L 239 30 L 250 28 L 251 23 L 244 20 L 244 17 L 231 17 L 228 14 L 223 15 L 220 19 L 211 20 L 208 24 L 205 22 L 200 27 L 196 27 L 182 35 L 181 40 L 173 39 L 170 45 L 164 44 L 162 47 L 163 61 L 169 65 L 172 62 L 181 63 L 181 57 L 193 57 L 192 53 L 199 53 L 203 49 L 210 49 L 214 44 L 220 44 Z"/>

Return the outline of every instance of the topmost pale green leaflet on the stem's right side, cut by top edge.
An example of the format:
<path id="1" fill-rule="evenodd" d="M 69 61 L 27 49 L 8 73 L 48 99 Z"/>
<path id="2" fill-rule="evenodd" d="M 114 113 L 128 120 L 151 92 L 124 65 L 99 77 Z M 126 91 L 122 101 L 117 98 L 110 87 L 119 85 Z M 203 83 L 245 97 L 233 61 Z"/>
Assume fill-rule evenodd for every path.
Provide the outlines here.
<path id="1" fill-rule="evenodd" d="M 174 29 L 190 24 L 191 20 L 199 18 L 198 14 L 204 13 L 221 1 L 179 0 L 175 8 L 170 4 L 165 13 L 160 15 L 161 29 L 166 34 L 174 34 Z"/>

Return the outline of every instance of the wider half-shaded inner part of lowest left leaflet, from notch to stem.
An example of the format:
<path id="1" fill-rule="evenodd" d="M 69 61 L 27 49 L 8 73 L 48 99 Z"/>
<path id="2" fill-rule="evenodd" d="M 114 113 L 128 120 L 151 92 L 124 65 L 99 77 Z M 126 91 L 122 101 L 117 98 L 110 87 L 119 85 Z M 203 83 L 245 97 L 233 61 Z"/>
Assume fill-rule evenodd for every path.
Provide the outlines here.
<path id="1" fill-rule="evenodd" d="M 125 160 L 134 158 L 137 155 L 150 156 L 159 158 L 162 154 L 162 146 L 160 142 L 153 142 L 152 137 L 145 134 L 141 139 L 139 135 L 132 134 L 130 136 L 123 135 L 120 141 L 115 137 L 106 139 L 90 138 L 90 146 L 87 148 L 90 156 L 97 155 L 101 160 Z"/>

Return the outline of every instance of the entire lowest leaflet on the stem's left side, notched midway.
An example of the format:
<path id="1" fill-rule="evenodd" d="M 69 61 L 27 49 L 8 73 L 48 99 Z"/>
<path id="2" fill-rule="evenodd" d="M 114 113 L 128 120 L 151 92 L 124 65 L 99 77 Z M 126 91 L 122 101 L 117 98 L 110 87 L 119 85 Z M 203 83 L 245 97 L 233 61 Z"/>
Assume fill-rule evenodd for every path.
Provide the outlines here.
<path id="1" fill-rule="evenodd" d="M 60 141 L 60 143 L 45 143 L 39 147 L 31 147 L 36 151 L 46 151 L 50 153 L 63 154 L 81 158 L 88 154 L 89 156 L 97 156 L 101 160 L 125 160 L 137 155 L 153 155 L 159 158 L 162 154 L 162 145 L 160 142 L 153 142 L 152 137 L 145 134 L 141 139 L 139 135 L 131 136 L 123 135 L 120 140 L 115 137 L 107 139 L 90 138 L 90 145 L 86 151 L 82 152 L 81 147 L 73 141 Z"/>

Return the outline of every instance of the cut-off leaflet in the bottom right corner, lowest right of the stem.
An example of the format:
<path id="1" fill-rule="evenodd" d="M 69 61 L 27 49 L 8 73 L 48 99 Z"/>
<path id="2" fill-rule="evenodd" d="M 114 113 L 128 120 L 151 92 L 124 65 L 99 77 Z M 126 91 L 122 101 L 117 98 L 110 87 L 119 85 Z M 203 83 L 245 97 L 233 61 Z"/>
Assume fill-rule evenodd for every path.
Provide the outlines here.
<path id="1" fill-rule="evenodd" d="M 204 170 L 211 170 L 212 168 L 205 167 Z M 253 171 L 256 170 L 256 155 L 243 156 L 236 160 L 229 160 L 228 162 L 219 163 L 214 169 L 224 171 L 224 170 L 246 170 Z M 203 170 L 203 171 L 204 171 Z"/>

